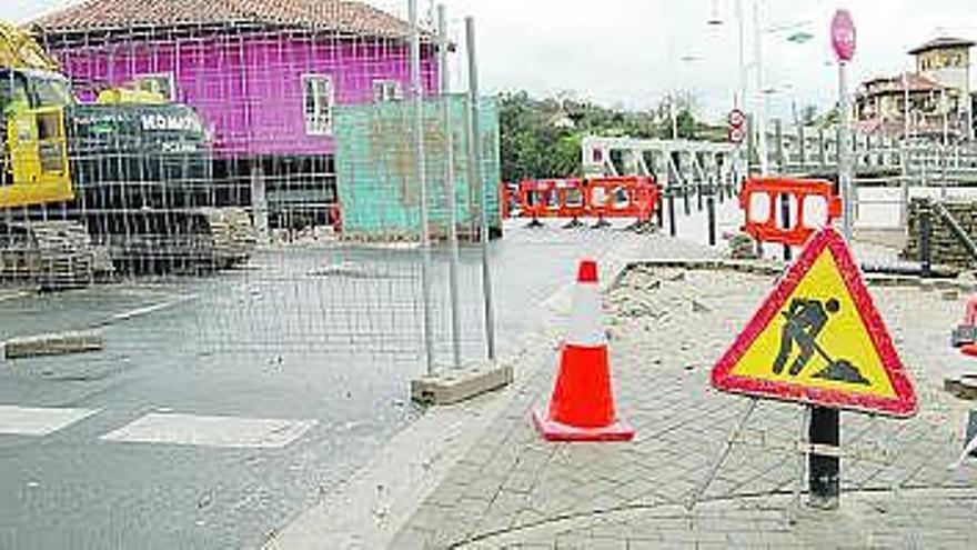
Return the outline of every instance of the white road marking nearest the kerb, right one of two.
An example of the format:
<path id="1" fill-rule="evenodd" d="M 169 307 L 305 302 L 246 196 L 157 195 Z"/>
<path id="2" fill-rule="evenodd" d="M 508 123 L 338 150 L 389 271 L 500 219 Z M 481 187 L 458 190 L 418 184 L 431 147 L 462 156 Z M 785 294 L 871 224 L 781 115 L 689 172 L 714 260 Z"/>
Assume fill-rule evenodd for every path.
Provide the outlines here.
<path id="1" fill-rule="evenodd" d="M 315 420 L 151 412 L 100 439 L 137 443 L 279 449 L 299 439 L 315 424 Z"/>

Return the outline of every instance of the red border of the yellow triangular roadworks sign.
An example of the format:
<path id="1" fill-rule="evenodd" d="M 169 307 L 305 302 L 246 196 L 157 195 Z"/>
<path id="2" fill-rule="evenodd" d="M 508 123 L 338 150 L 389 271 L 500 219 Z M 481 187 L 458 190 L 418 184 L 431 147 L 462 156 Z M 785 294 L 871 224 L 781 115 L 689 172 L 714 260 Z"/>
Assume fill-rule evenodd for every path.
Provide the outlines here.
<path id="1" fill-rule="evenodd" d="M 834 257 L 845 286 L 852 294 L 855 307 L 862 317 L 862 322 L 868 330 L 872 343 L 875 346 L 883 368 L 893 384 L 893 390 L 896 393 L 894 398 L 847 393 L 839 390 L 812 388 L 787 381 L 759 380 L 732 373 L 733 368 L 736 367 L 736 363 L 743 358 L 753 342 L 777 316 L 825 249 L 829 250 Z M 763 304 L 754 313 L 746 329 L 736 337 L 733 346 L 726 350 L 719 361 L 716 362 L 716 366 L 713 367 L 711 378 L 714 388 L 733 393 L 773 398 L 783 401 L 798 401 L 862 412 L 878 412 L 895 417 L 911 417 L 917 411 L 913 381 L 909 379 L 895 346 L 893 346 L 892 337 L 886 329 L 885 322 L 878 314 L 878 310 L 875 308 L 865 282 L 862 280 L 862 271 L 852 258 L 848 246 L 845 243 L 844 238 L 832 227 L 827 227 L 812 237 L 804 251 L 797 258 L 797 261 L 790 266 L 779 284 L 767 296 Z"/>

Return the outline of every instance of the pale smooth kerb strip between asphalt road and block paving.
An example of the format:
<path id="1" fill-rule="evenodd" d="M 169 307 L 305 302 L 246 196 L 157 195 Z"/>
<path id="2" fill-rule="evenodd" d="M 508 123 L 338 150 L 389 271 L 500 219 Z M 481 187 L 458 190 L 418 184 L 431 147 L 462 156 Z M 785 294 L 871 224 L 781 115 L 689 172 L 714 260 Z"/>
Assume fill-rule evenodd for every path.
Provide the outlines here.
<path id="1" fill-rule="evenodd" d="M 631 261 L 646 258 L 702 258 L 708 250 L 657 234 L 605 230 L 606 247 L 597 252 L 603 283 Z M 552 239 L 546 230 L 534 238 Z M 453 407 L 435 407 L 401 431 L 374 459 L 338 490 L 330 491 L 311 509 L 295 517 L 265 544 L 268 549 L 376 549 L 391 544 L 394 536 L 482 433 L 494 430 L 498 418 L 536 372 L 548 370 L 553 342 L 570 313 L 573 266 L 565 284 L 540 307 L 527 304 L 523 316 L 538 319 L 538 330 L 506 348 L 517 350 L 501 358 L 514 367 L 516 382 L 510 388 Z M 513 343 L 513 342 L 510 342 Z"/>

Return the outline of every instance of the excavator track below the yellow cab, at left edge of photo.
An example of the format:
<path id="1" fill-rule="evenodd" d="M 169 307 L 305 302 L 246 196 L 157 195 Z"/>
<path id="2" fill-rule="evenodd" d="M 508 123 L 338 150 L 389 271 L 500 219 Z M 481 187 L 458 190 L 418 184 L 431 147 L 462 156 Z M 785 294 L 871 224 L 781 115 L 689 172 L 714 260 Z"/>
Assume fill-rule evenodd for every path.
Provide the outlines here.
<path id="1" fill-rule="evenodd" d="M 73 221 L 0 222 L 0 280 L 43 290 L 79 288 L 112 274 L 108 251 Z"/>

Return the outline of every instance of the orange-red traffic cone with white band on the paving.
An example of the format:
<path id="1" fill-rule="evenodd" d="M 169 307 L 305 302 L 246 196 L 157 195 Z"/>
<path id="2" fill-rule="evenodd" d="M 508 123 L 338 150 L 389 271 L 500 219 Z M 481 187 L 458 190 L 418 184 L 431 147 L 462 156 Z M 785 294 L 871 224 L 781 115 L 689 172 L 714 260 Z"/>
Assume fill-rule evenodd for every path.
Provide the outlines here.
<path id="1" fill-rule="evenodd" d="M 550 410 L 533 411 L 536 428 L 550 441 L 628 441 L 634 437 L 614 410 L 607 337 L 600 317 L 597 263 L 583 260 Z"/>

